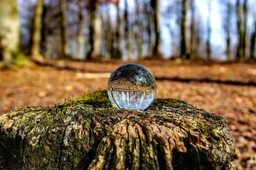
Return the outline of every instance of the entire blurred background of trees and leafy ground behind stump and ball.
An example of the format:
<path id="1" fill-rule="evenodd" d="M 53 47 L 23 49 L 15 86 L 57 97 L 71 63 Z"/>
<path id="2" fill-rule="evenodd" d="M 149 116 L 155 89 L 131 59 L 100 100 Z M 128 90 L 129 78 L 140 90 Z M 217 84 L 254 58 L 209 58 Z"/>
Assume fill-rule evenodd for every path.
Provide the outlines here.
<path id="1" fill-rule="evenodd" d="M 0 115 L 106 89 L 127 62 L 157 97 L 227 120 L 237 169 L 256 169 L 255 0 L 0 0 Z"/>

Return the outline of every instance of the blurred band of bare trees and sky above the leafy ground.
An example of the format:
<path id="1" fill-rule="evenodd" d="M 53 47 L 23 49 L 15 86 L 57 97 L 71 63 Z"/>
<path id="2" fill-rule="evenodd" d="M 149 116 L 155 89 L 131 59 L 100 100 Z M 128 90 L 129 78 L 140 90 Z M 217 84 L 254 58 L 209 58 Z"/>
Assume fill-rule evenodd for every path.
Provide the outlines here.
<path id="1" fill-rule="evenodd" d="M 255 59 L 255 6 L 249 0 L 1 0 L 1 60 L 8 66 L 21 53 L 40 61 Z"/>

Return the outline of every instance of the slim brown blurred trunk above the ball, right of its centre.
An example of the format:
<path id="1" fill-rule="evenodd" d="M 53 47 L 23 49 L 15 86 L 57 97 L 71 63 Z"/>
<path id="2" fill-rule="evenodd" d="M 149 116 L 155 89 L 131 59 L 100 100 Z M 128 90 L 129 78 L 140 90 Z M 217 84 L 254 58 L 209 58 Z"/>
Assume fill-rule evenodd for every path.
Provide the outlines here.
<path id="1" fill-rule="evenodd" d="M 137 50 L 138 50 L 138 59 L 143 59 L 143 28 L 141 25 L 140 17 L 140 2 L 136 0 L 136 41 L 137 41 Z"/>

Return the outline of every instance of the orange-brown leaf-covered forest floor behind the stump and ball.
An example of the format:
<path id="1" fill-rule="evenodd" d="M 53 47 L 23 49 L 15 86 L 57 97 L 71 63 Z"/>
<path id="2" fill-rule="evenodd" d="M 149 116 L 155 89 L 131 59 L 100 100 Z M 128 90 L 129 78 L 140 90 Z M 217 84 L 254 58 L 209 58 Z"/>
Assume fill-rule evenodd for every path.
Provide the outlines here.
<path id="1" fill-rule="evenodd" d="M 108 73 L 124 64 L 49 63 L 54 66 L 0 70 L 0 115 L 24 106 L 52 106 L 106 89 Z M 157 97 L 181 99 L 225 118 L 236 146 L 237 169 L 256 169 L 256 64 L 186 64 L 180 60 L 136 63 L 156 76 Z"/>

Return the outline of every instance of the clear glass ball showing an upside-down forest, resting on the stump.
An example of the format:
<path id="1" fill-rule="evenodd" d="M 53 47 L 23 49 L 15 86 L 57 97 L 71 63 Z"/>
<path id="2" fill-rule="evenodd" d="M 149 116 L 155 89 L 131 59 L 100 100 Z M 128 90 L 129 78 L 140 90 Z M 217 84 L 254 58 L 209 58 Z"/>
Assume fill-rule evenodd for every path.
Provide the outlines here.
<path id="1" fill-rule="evenodd" d="M 111 74 L 108 97 L 116 108 L 145 110 L 156 97 L 156 80 L 146 67 L 125 64 Z"/>

